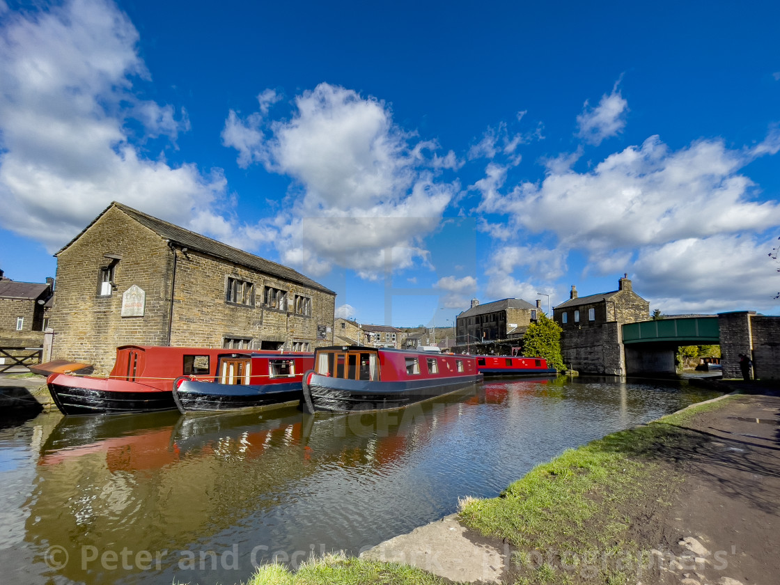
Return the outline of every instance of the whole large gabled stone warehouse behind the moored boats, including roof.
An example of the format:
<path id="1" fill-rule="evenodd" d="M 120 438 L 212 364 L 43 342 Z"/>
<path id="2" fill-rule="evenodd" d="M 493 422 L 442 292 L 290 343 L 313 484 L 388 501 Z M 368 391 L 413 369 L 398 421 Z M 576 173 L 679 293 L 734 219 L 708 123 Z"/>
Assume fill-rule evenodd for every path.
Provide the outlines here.
<path id="1" fill-rule="evenodd" d="M 109 205 L 55 256 L 53 355 L 96 373 L 127 343 L 310 351 L 333 342 L 333 291 L 126 205 Z"/>

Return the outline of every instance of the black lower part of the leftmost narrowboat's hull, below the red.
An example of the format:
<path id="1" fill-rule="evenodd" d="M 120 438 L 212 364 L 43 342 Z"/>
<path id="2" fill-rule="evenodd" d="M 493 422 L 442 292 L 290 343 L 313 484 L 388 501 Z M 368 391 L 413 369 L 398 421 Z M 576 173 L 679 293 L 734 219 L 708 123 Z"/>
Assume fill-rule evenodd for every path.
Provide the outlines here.
<path id="1" fill-rule="evenodd" d="M 112 392 L 53 383 L 49 383 L 48 388 L 57 408 L 62 414 L 69 416 L 148 413 L 176 409 L 172 392 L 164 390 Z"/>

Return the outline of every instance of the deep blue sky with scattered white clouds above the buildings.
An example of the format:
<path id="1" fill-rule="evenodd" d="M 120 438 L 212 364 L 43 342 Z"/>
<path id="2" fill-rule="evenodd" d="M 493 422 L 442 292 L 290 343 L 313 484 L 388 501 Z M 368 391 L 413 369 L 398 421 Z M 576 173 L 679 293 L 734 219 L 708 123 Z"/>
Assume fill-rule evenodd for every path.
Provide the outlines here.
<path id="1" fill-rule="evenodd" d="M 364 323 L 634 289 L 780 313 L 777 2 L 0 0 L 0 268 L 112 200 Z"/>

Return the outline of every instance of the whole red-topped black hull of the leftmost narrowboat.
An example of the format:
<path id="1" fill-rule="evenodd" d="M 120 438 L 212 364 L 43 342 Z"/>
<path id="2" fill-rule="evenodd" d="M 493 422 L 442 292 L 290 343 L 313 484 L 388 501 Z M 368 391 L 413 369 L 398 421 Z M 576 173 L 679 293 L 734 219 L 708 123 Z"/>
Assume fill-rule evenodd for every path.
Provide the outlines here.
<path id="1" fill-rule="evenodd" d="M 47 385 L 57 408 L 69 416 L 176 409 L 172 392 L 133 382 L 55 374 Z"/>

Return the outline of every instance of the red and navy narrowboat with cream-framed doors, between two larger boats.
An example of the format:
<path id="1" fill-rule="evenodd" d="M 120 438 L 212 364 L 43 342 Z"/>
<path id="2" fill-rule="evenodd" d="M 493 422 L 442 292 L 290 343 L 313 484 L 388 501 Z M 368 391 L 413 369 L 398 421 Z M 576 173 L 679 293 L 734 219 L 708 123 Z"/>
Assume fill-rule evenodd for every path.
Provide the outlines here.
<path id="1" fill-rule="evenodd" d="M 215 376 L 176 380 L 173 399 L 182 413 L 297 404 L 313 353 L 253 352 L 219 357 Z"/>

